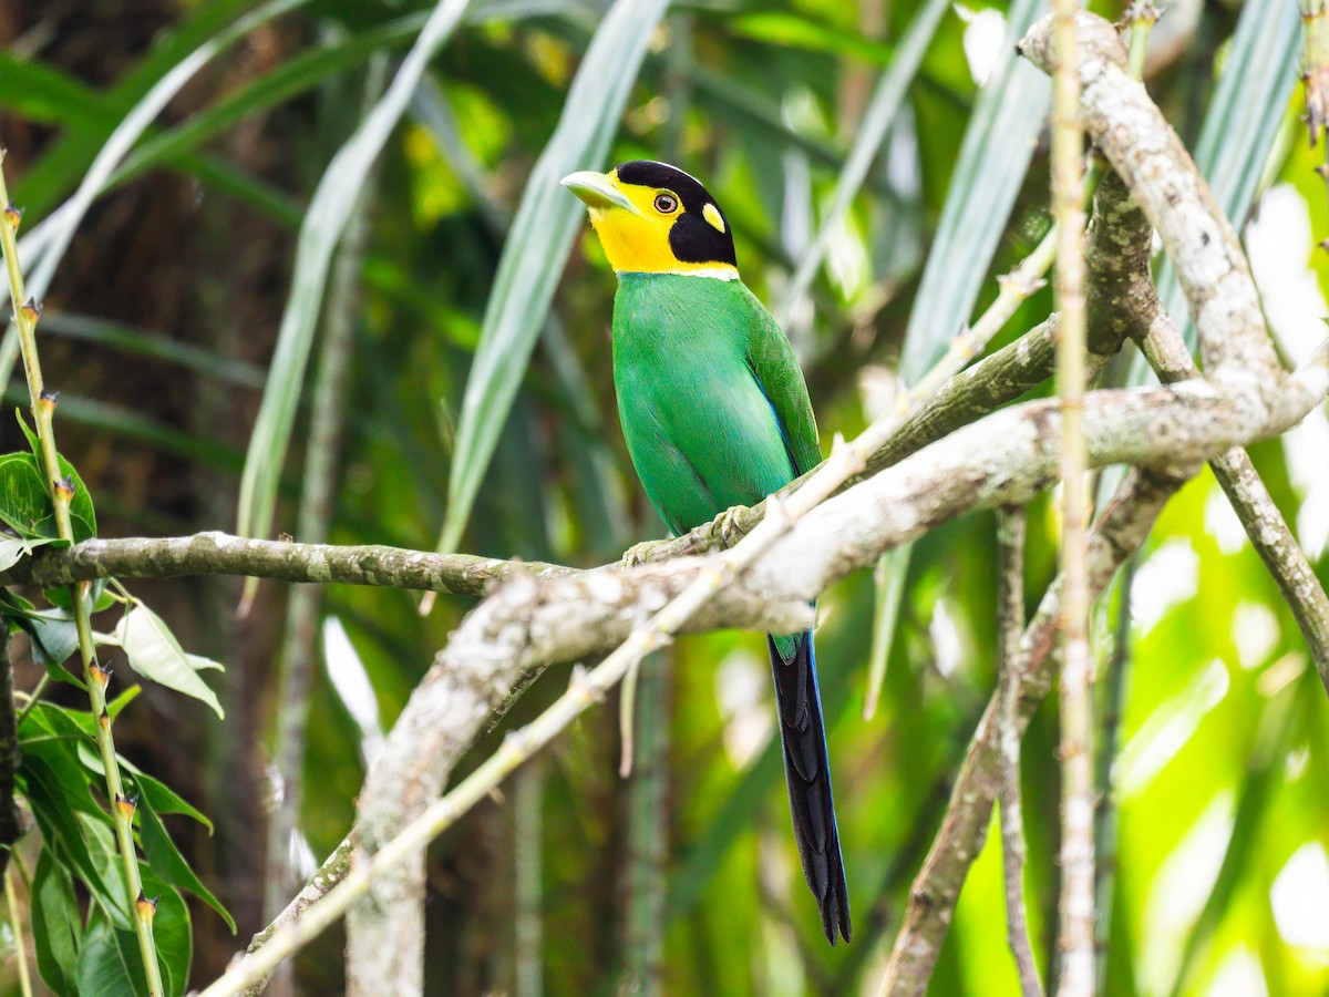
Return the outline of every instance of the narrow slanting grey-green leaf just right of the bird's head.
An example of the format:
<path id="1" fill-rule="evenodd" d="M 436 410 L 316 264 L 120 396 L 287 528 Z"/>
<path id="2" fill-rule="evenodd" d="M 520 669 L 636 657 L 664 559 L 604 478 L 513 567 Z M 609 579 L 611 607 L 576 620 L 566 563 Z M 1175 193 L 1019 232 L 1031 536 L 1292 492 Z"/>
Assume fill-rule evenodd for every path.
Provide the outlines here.
<path id="1" fill-rule="evenodd" d="M 937 33 L 941 16 L 949 5 L 948 0 L 929 0 L 928 5 L 914 17 L 913 24 L 909 25 L 909 31 L 900 43 L 890 68 L 877 81 L 877 89 L 873 92 L 868 110 L 863 116 L 859 134 L 853 140 L 853 148 L 849 150 L 839 179 L 836 179 L 835 198 L 831 201 L 831 209 L 827 211 L 825 218 L 821 219 L 821 227 L 817 230 L 812 246 L 799 261 L 799 266 L 793 271 L 793 278 L 789 280 L 789 287 L 775 310 L 775 320 L 780 326 L 789 324 L 789 315 L 793 314 L 793 310 L 808 292 L 812 278 L 825 258 L 827 246 L 835 237 L 845 211 L 849 210 L 849 205 L 853 203 L 853 198 L 863 189 L 863 182 L 868 177 L 868 169 L 872 166 L 877 150 L 885 141 L 890 125 L 894 124 L 900 105 L 909 90 L 909 84 L 913 82 L 914 76 L 918 73 L 922 57 L 928 52 L 928 44 L 932 41 L 933 35 Z"/>

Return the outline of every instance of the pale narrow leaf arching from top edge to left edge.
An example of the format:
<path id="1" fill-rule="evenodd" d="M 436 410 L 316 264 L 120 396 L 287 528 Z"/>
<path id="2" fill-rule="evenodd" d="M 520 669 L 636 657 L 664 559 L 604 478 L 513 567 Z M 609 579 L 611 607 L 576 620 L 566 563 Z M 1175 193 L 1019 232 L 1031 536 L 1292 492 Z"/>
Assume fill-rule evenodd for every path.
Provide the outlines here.
<path id="1" fill-rule="evenodd" d="M 78 185 L 78 190 L 69 201 L 33 229 L 20 243 L 20 258 L 27 261 L 31 273 L 27 279 L 27 291 L 32 298 L 41 300 L 51 287 L 56 267 L 64 259 L 65 250 L 73 241 L 88 209 L 110 181 L 112 171 L 130 150 L 138 137 L 152 125 L 153 120 L 175 97 L 179 89 L 189 82 L 194 73 L 203 68 L 214 56 L 226 51 L 239 41 L 249 32 L 266 24 L 272 17 L 295 9 L 306 0 L 272 0 L 272 3 L 241 17 L 217 37 L 194 49 L 186 58 L 171 65 L 165 76 L 158 80 L 150 90 L 138 101 L 125 120 L 112 132 L 110 138 L 101 148 L 97 158 L 88 169 L 86 175 Z M 37 247 L 40 246 L 40 259 Z M 0 384 L 9 383 L 9 374 L 13 371 L 13 362 L 19 352 L 17 326 L 9 323 L 0 340 Z"/>

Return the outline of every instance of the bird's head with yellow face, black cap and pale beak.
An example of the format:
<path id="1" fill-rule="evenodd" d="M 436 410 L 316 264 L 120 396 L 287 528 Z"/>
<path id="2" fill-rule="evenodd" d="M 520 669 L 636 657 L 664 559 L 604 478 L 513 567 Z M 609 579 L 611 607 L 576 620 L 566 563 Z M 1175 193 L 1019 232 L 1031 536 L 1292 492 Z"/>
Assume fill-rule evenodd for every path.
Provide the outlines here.
<path id="1" fill-rule="evenodd" d="M 573 173 L 562 183 L 586 203 L 615 271 L 738 278 L 724 213 L 683 170 L 637 160 L 609 173 Z"/>

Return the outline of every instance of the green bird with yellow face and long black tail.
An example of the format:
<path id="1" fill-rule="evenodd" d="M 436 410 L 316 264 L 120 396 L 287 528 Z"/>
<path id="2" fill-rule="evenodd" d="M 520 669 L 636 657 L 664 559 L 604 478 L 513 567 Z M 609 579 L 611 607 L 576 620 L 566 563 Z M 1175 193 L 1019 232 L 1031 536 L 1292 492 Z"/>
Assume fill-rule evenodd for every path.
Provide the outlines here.
<path id="1" fill-rule="evenodd" d="M 614 391 L 627 452 L 675 534 L 751 506 L 821 463 L 789 340 L 739 278 L 734 231 L 692 175 L 637 160 L 562 185 L 610 266 Z M 768 634 L 784 776 L 803 873 L 827 940 L 849 941 L 812 631 Z"/>

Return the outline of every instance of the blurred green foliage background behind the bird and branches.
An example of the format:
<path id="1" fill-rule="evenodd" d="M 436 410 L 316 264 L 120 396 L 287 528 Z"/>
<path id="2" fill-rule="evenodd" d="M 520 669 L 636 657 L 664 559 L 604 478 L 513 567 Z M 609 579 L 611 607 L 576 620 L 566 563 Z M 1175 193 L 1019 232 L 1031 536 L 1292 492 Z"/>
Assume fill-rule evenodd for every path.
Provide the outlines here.
<path id="1" fill-rule="evenodd" d="M 625 29 L 601 41 L 599 72 L 577 88 L 606 7 L 466 7 L 376 166 L 363 182 L 328 174 L 323 197 L 348 210 L 351 229 L 322 306 L 318 294 L 296 294 L 288 310 L 296 261 L 332 250 L 319 225 L 327 202 L 311 214 L 307 205 L 428 9 L 371 0 L 275 11 L 246 0 L 0 5 L 0 138 L 25 231 L 74 194 L 155 84 L 260 12 L 170 96 L 92 202 L 45 295 L 41 348 L 47 380 L 62 392 L 61 451 L 96 496 L 101 536 L 231 529 L 239 516 L 271 536 L 431 549 L 451 514 L 457 549 L 575 565 L 662 536 L 614 411 L 613 275 L 575 203 L 550 183 L 567 157 L 585 157 L 567 169 L 663 158 L 708 185 L 734 223 L 744 279 L 781 310 L 827 441 L 880 411 L 894 371 L 917 380 L 995 295 L 993 278 L 1046 231 L 1046 82 L 1027 66 L 1007 72 L 1010 45 L 994 20 L 1027 23 L 1038 3 L 675 4 L 645 36 L 639 72 Z M 1115 3 L 1091 7 L 1122 13 Z M 1297 32 L 1290 0 L 1179 1 L 1155 32 L 1147 81 L 1229 217 L 1253 219 L 1247 242 L 1273 331 L 1301 359 L 1322 335 L 1306 319 L 1325 314 L 1329 273 L 1312 247 L 1329 225 L 1313 171 L 1320 152 L 1298 124 Z M 916 72 L 910 53 L 921 56 Z M 993 60 L 993 81 L 979 88 Z M 824 226 L 836 198 L 856 193 Z M 824 266 L 807 274 L 801 300 L 789 294 L 792 271 L 813 246 Z M 40 258 L 35 249 L 24 261 L 29 271 Z M 544 286 L 557 287 L 548 316 Z M 1035 294 L 1006 339 L 1050 306 L 1047 291 Z M 270 378 L 278 331 L 302 323 L 308 366 L 279 352 Z M 476 362 L 481 330 L 490 355 Z M 1110 376 L 1124 380 L 1128 367 Z M 510 413 L 504 375 L 516 389 Z M 5 400 L 25 399 L 12 382 Z M 288 452 L 283 407 L 294 420 Z M 8 419 L 0 443 L 25 449 Z M 1326 453 L 1322 412 L 1252 449 L 1322 580 Z M 264 475 L 276 497 L 270 518 Z M 323 476 L 331 488 L 319 496 L 308 483 Z M 1053 510 L 1035 504 L 1030 605 L 1055 572 L 1055 540 Z M 762 641 L 723 633 L 679 641 L 643 678 L 638 736 L 659 746 L 654 764 L 643 759 L 619 779 L 615 713 L 591 713 L 437 843 L 431 992 L 534 994 L 542 981 L 549 993 L 609 993 L 625 973 L 670 993 L 872 988 L 994 683 L 994 552 L 991 516 L 973 516 L 884 569 L 906 574 L 868 720 L 873 578 L 852 578 L 821 604 L 849 946 L 825 946 L 804 896 Z M 441 597 L 423 617 L 400 592 L 330 586 L 316 605 L 288 611 L 291 593 L 264 582 L 238 619 L 234 580 L 134 592 L 186 647 L 226 663 L 207 675 L 225 720 L 148 687 L 117 723 L 121 752 L 215 823 L 211 836 L 170 824 L 238 924 L 233 936 L 190 899 L 198 985 L 266 924 L 264 903 L 271 912 L 288 896 L 264 897 L 264 884 L 283 883 L 284 849 L 268 847 L 276 800 L 300 800 L 291 851 L 308 872 L 346 833 L 367 758 L 472 602 Z M 1325 701 L 1290 613 L 1208 471 L 1167 506 L 1130 586 L 1102 601 L 1096 621 L 1102 671 L 1120 675 L 1099 683 L 1103 722 L 1118 724 L 1119 831 L 1115 861 L 1103 861 L 1107 990 L 1324 992 Z M 319 666 L 302 689 L 291 662 L 307 657 L 312 637 L 322 638 Z M 1110 661 L 1114 647 L 1124 663 Z M 23 638 L 15 655 L 19 687 L 32 689 L 41 669 Z M 472 756 L 486 756 L 567 678 L 549 670 Z M 72 687 L 51 695 L 85 702 Z M 303 703 L 300 751 L 290 746 L 303 743 Z M 1025 752 L 1027 889 L 1043 966 L 1058 891 L 1054 707 Z M 278 756 L 298 760 L 294 778 L 276 775 Z M 1001 897 L 991 835 L 937 993 L 1015 992 Z M 339 945 L 335 933 L 322 939 L 280 985 L 338 992 Z"/>

